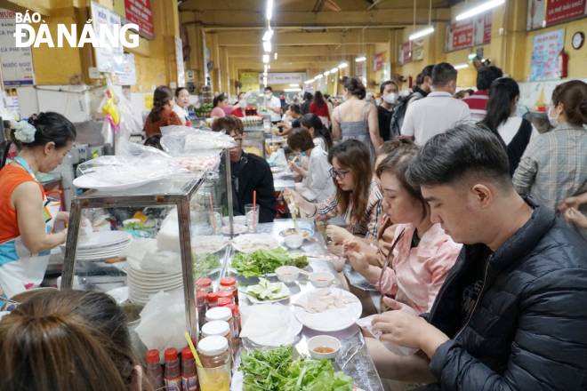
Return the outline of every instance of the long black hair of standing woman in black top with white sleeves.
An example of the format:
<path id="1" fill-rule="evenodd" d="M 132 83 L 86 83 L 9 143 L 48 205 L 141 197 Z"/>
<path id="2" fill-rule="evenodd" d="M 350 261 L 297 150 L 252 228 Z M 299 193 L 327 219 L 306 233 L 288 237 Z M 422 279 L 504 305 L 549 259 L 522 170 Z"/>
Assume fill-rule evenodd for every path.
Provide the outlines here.
<path id="1" fill-rule="evenodd" d="M 481 121 L 487 129 L 497 134 L 497 128 L 511 116 L 511 107 L 519 97 L 519 86 L 510 77 L 495 79 L 489 88 L 487 114 Z"/>

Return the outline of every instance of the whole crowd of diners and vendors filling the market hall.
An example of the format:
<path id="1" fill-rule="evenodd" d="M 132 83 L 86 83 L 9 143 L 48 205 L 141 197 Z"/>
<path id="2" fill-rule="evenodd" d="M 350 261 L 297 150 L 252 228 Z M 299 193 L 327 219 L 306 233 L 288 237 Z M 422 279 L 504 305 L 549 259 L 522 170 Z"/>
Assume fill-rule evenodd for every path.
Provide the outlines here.
<path id="1" fill-rule="evenodd" d="M 382 294 L 365 334 L 384 379 L 425 390 L 585 389 L 587 84 L 554 89 L 553 129 L 539 133 L 517 116 L 519 85 L 499 68 L 480 69 L 477 91 L 462 99 L 456 77 L 447 63 L 425 67 L 402 96 L 385 82 L 379 106 L 357 77 L 343 80 L 334 108 L 316 92 L 283 110 L 268 87 L 299 177 L 285 198 L 307 218 L 342 217 L 326 234 Z M 173 100 L 184 108 L 184 90 L 157 88 L 149 139 L 188 123 Z M 243 123 L 227 104 L 214 99 L 212 129 L 237 141 L 226 163 L 235 213 L 254 191 L 260 222 L 272 221 L 269 164 L 243 150 Z M 32 260 L 22 246 L 65 241 L 43 219 L 36 173 L 60 163 L 75 128 L 54 113 L 30 128 L 32 138 L 15 132 L 20 156 L 0 171 L 0 283 L 13 274 L 7 265 Z M 33 296 L 0 322 L 0 347 L 1 389 L 149 389 L 124 314 L 99 293 Z"/>

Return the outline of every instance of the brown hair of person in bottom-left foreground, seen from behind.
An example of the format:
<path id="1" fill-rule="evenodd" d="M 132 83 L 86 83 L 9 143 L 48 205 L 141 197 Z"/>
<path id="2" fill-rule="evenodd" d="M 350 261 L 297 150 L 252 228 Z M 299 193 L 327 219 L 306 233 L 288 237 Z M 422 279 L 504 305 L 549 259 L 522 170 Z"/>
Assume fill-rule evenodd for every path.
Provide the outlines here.
<path id="1" fill-rule="evenodd" d="M 0 322 L 0 389 L 128 391 L 132 352 L 126 315 L 105 293 L 38 292 Z"/>

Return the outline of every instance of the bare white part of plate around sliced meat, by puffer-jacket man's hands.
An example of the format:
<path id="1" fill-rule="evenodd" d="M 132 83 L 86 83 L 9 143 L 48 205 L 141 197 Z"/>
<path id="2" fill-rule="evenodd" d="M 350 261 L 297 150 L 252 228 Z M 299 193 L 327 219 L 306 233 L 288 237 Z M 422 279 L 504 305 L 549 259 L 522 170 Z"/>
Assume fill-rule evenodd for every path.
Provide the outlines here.
<path id="1" fill-rule="evenodd" d="M 331 308 L 324 312 L 311 314 L 302 307 L 294 306 L 294 315 L 304 326 L 311 330 L 322 332 L 341 331 L 349 328 L 358 321 L 363 312 L 363 306 L 357 296 L 349 291 L 343 291 L 339 288 L 323 288 L 331 290 L 335 294 L 352 299 L 352 302 L 342 308 Z M 312 290 L 303 293 L 296 302 L 305 302 L 310 295 L 316 294 L 320 290 Z"/>

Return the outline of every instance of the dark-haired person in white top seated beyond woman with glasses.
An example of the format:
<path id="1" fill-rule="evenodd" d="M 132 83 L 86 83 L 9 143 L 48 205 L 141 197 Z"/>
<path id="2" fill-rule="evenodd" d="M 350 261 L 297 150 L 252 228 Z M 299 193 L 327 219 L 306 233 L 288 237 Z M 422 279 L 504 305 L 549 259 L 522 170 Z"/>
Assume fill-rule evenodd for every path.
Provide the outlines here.
<path id="1" fill-rule="evenodd" d="M 319 120 L 318 120 L 319 121 Z M 287 137 L 287 145 L 294 152 L 310 156 L 308 170 L 295 163 L 290 163 L 290 170 L 298 172 L 303 178 L 296 190 L 310 202 L 321 203 L 334 195 L 336 188 L 330 176 L 331 166 L 328 164 L 328 154 L 320 146 L 314 144 L 308 129 L 294 128 Z"/>

